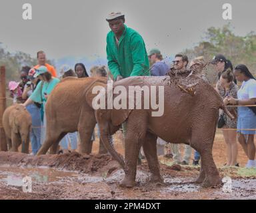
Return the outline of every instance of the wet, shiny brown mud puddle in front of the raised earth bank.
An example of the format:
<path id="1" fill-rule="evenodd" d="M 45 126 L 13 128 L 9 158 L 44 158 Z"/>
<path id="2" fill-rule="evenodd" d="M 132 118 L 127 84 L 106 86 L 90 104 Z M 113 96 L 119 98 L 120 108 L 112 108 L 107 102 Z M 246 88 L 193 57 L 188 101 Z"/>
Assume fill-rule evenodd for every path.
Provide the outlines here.
<path id="1" fill-rule="evenodd" d="M 7 184 L 8 176 L 32 176 L 33 191 Z M 47 176 L 47 180 L 38 178 Z M 163 176 L 163 184 L 149 183 L 149 172 L 138 170 L 137 185 L 122 188 L 123 170 L 92 176 L 53 168 L 11 168 L 0 166 L 0 198 L 3 199 L 256 199 L 256 179 L 232 180 L 231 191 L 203 188 L 191 177 Z M 14 180 L 14 179 L 13 179 Z"/>

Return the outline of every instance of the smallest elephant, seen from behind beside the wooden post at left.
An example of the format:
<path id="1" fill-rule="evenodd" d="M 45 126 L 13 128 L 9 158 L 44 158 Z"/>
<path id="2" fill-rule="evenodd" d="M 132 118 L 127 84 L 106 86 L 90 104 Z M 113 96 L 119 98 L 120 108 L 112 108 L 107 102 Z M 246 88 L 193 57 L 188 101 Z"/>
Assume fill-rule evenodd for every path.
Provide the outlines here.
<path id="1" fill-rule="evenodd" d="M 3 128 L 5 129 L 8 149 L 17 152 L 19 145 L 21 152 L 29 153 L 29 133 L 32 120 L 29 112 L 21 105 L 12 105 L 3 113 Z"/>

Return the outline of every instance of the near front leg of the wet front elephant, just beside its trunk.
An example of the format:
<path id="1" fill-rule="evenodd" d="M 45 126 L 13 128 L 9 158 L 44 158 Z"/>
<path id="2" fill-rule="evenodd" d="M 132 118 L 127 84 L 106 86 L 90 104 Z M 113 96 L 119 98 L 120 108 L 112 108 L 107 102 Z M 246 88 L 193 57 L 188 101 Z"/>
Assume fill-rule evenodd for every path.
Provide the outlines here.
<path id="1" fill-rule="evenodd" d="M 131 112 L 129 115 L 125 134 L 125 177 L 120 185 L 129 188 L 136 184 L 139 150 L 143 142 L 145 142 L 147 131 L 146 116 L 142 112 L 137 112 Z"/>

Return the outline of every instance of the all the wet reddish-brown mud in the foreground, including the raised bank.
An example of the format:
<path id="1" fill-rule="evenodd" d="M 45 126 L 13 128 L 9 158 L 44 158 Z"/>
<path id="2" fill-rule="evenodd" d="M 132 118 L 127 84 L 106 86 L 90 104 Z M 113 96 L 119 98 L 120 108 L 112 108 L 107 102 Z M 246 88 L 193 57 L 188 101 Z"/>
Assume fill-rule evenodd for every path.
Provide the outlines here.
<path id="1" fill-rule="evenodd" d="M 1 199 L 256 199 L 256 175 L 239 168 L 220 168 L 231 178 L 231 187 L 203 188 L 193 182 L 198 166 L 161 164 L 162 184 L 149 183 L 147 162 L 137 168 L 137 185 L 122 188 L 119 164 L 104 155 L 77 152 L 29 156 L 0 152 Z M 178 169 L 177 169 L 178 168 Z M 22 179 L 30 176 L 32 191 L 23 192 Z"/>

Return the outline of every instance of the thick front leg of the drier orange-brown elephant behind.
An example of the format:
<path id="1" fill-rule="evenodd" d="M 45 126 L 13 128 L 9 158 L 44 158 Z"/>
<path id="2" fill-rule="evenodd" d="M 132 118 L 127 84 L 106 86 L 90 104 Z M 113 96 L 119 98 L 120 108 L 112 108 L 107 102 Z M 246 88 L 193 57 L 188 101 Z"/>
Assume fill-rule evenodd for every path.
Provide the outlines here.
<path id="1" fill-rule="evenodd" d="M 83 116 L 80 116 L 78 124 L 78 132 L 81 140 L 81 153 L 91 154 L 93 147 L 91 136 L 96 124 L 95 115 L 94 112 L 91 111 L 82 111 L 81 114 L 83 114 Z"/>

